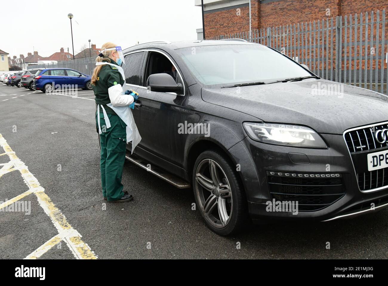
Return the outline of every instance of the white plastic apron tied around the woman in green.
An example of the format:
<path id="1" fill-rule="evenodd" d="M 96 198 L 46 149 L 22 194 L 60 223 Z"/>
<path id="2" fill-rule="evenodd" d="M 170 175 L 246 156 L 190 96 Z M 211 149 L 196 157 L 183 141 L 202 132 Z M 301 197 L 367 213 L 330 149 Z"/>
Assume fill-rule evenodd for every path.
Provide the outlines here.
<path id="1" fill-rule="evenodd" d="M 100 61 L 97 62 L 96 65 L 111 65 L 115 68 L 117 68 L 125 80 L 125 75 L 124 75 L 124 70 L 122 67 L 118 65 L 114 65 L 113 63 L 107 63 L 106 61 Z M 124 81 L 125 84 L 125 81 Z M 124 90 L 124 84 L 122 85 L 122 88 Z M 128 95 L 129 96 L 129 95 Z M 114 112 L 121 118 L 121 120 L 124 121 L 126 124 L 126 142 L 131 142 L 132 141 L 132 151 L 131 154 L 133 153 L 133 150 L 139 144 L 140 140 L 142 140 L 142 137 L 140 136 L 139 130 L 137 130 L 137 126 L 135 123 L 135 119 L 133 118 L 132 111 L 128 106 L 114 106 L 113 104 L 109 103 L 107 104 L 111 109 L 113 109 Z M 106 123 L 106 128 L 111 127 L 111 122 L 109 121 L 109 118 L 106 114 L 106 111 L 104 109 L 104 106 L 102 106 L 102 112 L 104 113 L 104 118 L 105 118 L 105 123 Z M 97 120 L 98 120 L 98 128 L 99 128 L 99 133 L 101 134 L 101 127 L 100 127 L 100 105 L 97 107 Z"/>

